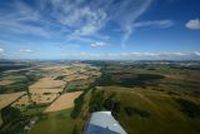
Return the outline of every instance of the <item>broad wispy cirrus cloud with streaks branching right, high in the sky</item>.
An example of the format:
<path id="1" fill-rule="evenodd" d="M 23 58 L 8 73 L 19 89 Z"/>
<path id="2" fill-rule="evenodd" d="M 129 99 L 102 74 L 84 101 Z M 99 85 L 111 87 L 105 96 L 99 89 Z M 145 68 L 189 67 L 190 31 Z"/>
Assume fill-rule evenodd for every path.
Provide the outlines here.
<path id="1" fill-rule="evenodd" d="M 135 27 L 172 25 L 170 20 L 137 22 L 154 0 L 42 0 L 30 5 L 22 0 L 0 9 L 2 34 L 33 35 L 45 39 L 78 40 L 91 43 L 105 40 L 109 35 L 101 30 L 115 23 L 122 31 L 121 45 L 132 35 Z"/>

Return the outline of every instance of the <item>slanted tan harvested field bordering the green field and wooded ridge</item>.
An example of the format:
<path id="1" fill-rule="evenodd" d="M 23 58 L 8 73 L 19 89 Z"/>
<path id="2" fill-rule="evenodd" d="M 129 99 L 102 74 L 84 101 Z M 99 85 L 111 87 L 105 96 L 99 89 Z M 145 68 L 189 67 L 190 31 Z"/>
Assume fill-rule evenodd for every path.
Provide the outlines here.
<path id="1" fill-rule="evenodd" d="M 55 112 L 71 108 L 74 106 L 74 100 L 82 93 L 82 91 L 66 93 L 61 95 L 54 103 L 52 103 L 45 112 Z"/>

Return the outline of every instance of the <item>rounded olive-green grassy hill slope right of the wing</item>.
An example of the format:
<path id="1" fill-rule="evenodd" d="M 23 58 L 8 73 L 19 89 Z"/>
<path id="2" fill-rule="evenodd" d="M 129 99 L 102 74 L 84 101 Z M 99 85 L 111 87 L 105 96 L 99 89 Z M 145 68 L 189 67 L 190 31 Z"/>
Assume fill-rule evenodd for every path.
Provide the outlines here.
<path id="1" fill-rule="evenodd" d="M 121 110 L 118 120 L 128 133 L 193 134 L 200 132 L 197 127 L 200 120 L 190 118 L 179 110 L 181 106 L 172 96 L 149 89 L 130 90 L 120 89 L 120 87 L 104 88 L 104 91 L 107 91 L 106 96 L 116 93 L 116 97 L 120 100 Z M 126 107 L 141 109 L 149 113 L 149 117 L 144 118 L 138 114 L 128 115 Z"/>

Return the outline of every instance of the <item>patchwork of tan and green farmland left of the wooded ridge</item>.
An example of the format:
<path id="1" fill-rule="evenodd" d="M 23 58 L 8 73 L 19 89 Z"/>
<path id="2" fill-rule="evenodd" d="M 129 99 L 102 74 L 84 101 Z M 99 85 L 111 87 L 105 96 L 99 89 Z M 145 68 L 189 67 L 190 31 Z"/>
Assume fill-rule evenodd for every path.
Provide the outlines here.
<path id="1" fill-rule="evenodd" d="M 20 65 L 27 66 L 27 63 Z M 11 63 L 10 66 L 0 75 L 0 133 L 3 134 L 28 133 L 32 128 L 31 132 L 35 133 L 37 126 L 43 126 L 43 117 L 62 121 L 58 116 L 65 116 L 65 112 L 70 115 L 66 109 L 74 106 L 74 100 L 82 93 L 80 90 L 88 89 L 101 75 L 99 68 L 88 64 L 31 63 L 29 68 L 19 68 L 18 64 L 15 68 L 15 63 Z M 76 86 L 69 88 L 72 83 Z"/>

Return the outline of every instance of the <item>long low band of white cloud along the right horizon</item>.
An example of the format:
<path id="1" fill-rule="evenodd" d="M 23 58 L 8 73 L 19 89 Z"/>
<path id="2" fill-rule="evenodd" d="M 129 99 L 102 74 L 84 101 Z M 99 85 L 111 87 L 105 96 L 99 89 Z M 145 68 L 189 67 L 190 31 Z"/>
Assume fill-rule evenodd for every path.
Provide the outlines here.
<path id="1" fill-rule="evenodd" d="M 108 60 L 191 60 L 200 59 L 200 52 L 123 52 L 123 53 L 72 53 L 68 56 L 80 59 Z"/>

